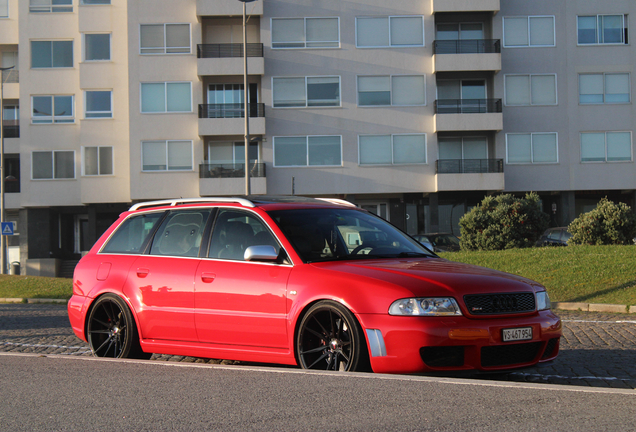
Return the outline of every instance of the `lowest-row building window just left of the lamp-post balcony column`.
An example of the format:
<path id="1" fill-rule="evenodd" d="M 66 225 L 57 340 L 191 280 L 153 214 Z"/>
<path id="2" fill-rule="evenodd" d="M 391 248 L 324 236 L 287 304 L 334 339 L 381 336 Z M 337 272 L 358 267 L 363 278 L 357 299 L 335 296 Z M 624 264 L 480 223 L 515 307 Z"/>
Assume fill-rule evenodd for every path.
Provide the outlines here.
<path id="1" fill-rule="evenodd" d="M 192 141 L 142 141 L 142 171 L 192 171 Z"/>

